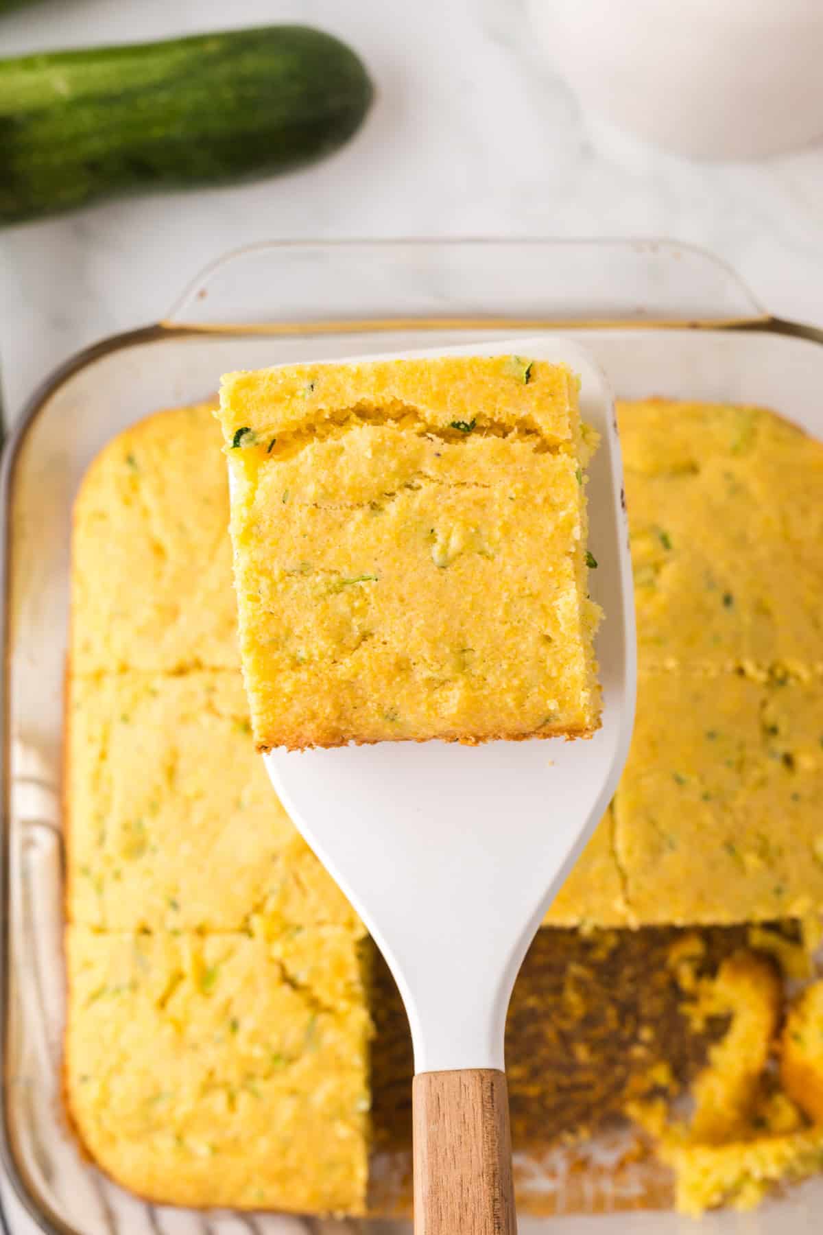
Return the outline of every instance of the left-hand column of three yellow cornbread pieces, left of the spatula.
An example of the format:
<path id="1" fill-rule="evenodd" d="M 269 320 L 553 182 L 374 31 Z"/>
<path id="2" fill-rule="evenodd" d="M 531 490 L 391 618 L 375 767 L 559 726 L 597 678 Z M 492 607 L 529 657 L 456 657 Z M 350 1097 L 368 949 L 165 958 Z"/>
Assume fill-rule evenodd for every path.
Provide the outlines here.
<path id="1" fill-rule="evenodd" d="M 211 409 L 114 438 L 77 500 L 67 1105 L 143 1197 L 357 1214 L 363 927 L 254 751 Z"/>

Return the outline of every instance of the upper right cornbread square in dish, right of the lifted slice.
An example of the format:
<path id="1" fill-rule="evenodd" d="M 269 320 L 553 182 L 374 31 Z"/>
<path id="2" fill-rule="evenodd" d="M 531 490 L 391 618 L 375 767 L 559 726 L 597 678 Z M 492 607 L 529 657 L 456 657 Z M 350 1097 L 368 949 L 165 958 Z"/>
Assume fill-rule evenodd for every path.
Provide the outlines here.
<path id="1" fill-rule="evenodd" d="M 648 668 L 823 671 L 823 443 L 758 408 L 618 404 Z"/>

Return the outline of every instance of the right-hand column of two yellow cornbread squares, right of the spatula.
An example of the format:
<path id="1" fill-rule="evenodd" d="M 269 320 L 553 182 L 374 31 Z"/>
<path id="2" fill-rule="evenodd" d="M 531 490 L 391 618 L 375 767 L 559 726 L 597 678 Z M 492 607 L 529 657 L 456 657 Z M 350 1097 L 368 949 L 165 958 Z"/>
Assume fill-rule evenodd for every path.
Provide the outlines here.
<path id="1" fill-rule="evenodd" d="M 823 445 L 758 408 L 618 405 L 638 706 L 612 803 L 635 923 L 823 904 Z"/>

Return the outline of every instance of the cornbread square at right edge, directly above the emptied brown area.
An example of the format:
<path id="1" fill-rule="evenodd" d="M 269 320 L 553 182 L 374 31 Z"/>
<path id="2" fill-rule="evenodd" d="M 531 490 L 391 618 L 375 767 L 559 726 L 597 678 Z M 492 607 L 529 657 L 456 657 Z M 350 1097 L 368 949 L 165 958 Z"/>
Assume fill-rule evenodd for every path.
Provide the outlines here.
<path id="1" fill-rule="evenodd" d="M 804 916 L 823 903 L 823 690 L 640 673 L 614 847 L 642 924 Z"/>

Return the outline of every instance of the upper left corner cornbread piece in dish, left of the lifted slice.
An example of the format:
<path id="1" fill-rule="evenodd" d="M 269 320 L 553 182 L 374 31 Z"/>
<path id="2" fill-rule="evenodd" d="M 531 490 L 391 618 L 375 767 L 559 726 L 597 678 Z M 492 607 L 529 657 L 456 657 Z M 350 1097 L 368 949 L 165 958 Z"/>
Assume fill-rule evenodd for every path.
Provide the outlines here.
<path id="1" fill-rule="evenodd" d="M 72 541 L 74 673 L 239 668 L 213 406 L 148 416 L 86 472 Z"/>

